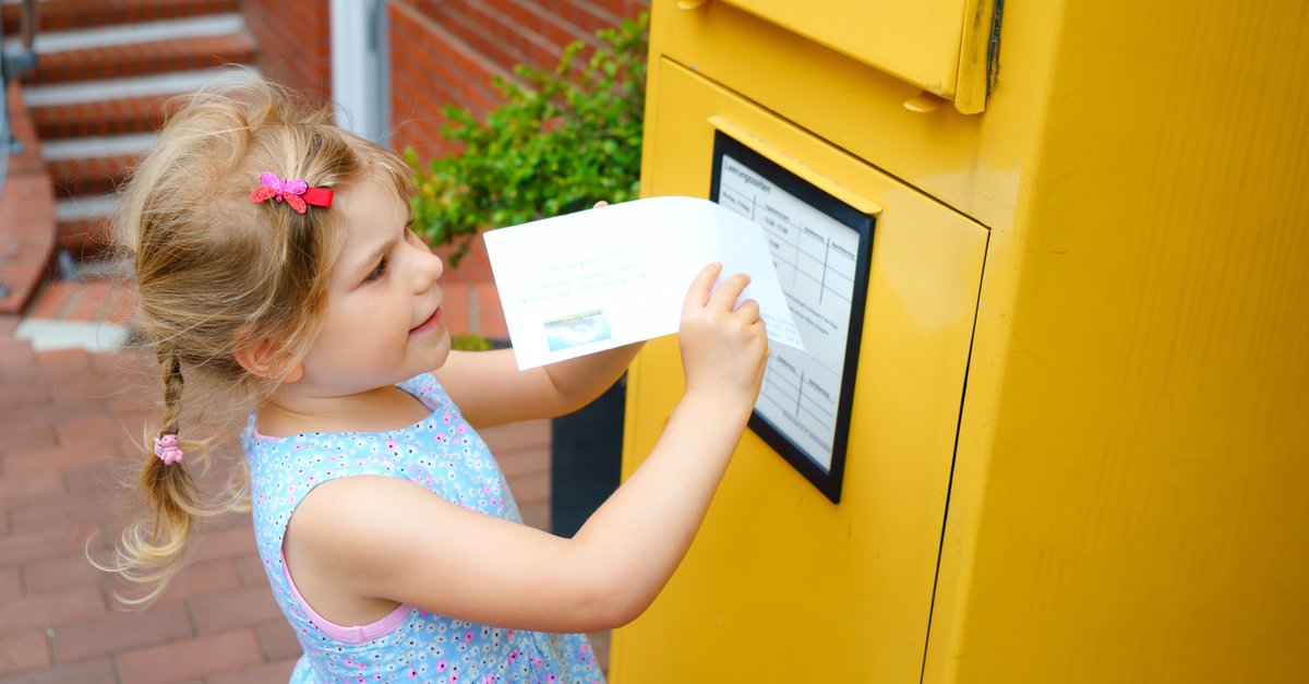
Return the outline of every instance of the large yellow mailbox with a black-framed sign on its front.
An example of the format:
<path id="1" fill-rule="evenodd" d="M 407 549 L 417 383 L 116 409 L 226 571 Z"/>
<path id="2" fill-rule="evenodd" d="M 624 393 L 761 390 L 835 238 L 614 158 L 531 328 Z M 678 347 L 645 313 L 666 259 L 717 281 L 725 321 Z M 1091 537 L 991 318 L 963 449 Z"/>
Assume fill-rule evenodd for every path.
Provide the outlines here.
<path id="1" fill-rule="evenodd" d="M 764 224 L 818 343 L 611 679 L 1309 681 L 1302 3 L 652 5 L 643 193 Z"/>

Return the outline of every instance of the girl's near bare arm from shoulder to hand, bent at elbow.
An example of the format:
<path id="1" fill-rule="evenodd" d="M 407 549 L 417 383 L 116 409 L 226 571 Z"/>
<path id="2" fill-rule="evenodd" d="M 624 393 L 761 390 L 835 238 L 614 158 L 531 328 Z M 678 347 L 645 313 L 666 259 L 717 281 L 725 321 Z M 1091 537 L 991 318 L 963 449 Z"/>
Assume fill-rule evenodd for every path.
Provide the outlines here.
<path id="1" fill-rule="evenodd" d="M 391 601 L 461 620 L 586 632 L 640 615 L 690 546 L 759 392 L 767 339 L 747 278 L 691 287 L 681 326 L 686 394 L 644 464 L 560 539 L 471 512 L 418 485 L 319 485 L 291 520 L 287 560 L 327 620 L 381 617 Z M 367 511 L 367 514 L 364 512 Z"/>

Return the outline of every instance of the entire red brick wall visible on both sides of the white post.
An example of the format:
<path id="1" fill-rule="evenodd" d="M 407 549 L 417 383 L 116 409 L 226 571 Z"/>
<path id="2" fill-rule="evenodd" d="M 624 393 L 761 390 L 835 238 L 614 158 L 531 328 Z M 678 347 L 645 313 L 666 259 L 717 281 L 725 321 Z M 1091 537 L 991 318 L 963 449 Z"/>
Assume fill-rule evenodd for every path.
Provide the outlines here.
<path id="1" fill-rule="evenodd" d="M 486 110 L 491 77 L 514 64 L 552 67 L 563 46 L 594 42 L 649 8 L 649 0 L 389 0 L 391 144 L 420 159 L 444 152 L 446 104 Z M 306 93 L 331 93 L 329 0 L 246 0 L 259 71 Z"/>

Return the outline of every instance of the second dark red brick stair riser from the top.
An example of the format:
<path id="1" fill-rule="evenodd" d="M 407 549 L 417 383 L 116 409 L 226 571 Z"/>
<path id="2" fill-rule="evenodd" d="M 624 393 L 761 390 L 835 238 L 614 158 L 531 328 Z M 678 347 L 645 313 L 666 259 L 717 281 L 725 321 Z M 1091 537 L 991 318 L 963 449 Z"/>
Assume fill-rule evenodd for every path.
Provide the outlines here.
<path id="1" fill-rule="evenodd" d="M 224 64 L 251 64 L 254 41 L 245 33 L 198 35 L 43 52 L 38 42 L 37 69 L 25 81 L 33 85 L 119 79 L 174 71 L 195 71 Z"/>

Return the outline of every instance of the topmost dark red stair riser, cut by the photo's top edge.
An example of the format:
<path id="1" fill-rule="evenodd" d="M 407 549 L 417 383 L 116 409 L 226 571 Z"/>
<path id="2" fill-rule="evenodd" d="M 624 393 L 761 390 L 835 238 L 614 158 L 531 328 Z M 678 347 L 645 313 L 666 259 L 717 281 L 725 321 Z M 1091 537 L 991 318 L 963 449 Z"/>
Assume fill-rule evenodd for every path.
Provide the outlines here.
<path id="1" fill-rule="evenodd" d="M 39 12 L 42 31 L 67 31 L 240 10 L 240 0 L 42 0 Z M 5 33 L 16 33 L 22 8 L 5 3 L 3 12 Z"/>

